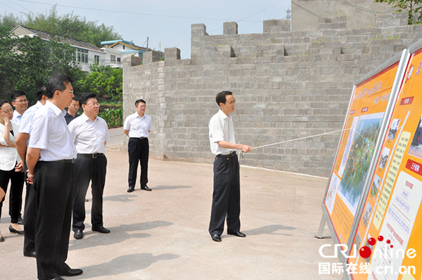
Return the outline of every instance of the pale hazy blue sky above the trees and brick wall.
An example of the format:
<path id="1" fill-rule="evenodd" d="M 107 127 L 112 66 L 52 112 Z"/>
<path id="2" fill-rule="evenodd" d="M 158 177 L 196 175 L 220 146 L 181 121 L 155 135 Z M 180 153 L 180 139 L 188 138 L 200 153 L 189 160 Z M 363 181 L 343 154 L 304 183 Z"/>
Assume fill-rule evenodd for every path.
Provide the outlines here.
<path id="1" fill-rule="evenodd" d="M 49 13 L 57 4 L 58 15 L 74 13 L 87 20 L 113 26 L 122 39 L 138 46 L 164 51 L 177 47 L 181 58 L 191 58 L 191 25 L 203 23 L 207 33 L 223 33 L 223 23 L 238 23 L 239 34 L 261 33 L 262 21 L 286 18 L 290 0 L 0 0 L 0 15 Z M 121 39 L 121 38 L 116 38 Z"/>

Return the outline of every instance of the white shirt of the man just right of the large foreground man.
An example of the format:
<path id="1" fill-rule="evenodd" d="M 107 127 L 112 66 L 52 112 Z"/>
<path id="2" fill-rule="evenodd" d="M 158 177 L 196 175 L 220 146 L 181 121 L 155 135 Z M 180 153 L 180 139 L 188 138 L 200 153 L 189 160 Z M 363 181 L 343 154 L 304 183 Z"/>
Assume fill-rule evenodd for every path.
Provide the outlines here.
<path id="1" fill-rule="evenodd" d="M 106 153 L 104 142 L 110 140 L 107 122 L 96 117 L 94 122 L 82 114 L 69 122 L 69 130 L 77 153 Z"/>

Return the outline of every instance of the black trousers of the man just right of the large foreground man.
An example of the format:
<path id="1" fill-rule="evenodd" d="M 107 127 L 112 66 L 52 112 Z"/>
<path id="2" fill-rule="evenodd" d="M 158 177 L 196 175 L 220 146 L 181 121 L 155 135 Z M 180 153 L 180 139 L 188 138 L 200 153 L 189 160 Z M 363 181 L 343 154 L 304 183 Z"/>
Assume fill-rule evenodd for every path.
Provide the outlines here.
<path id="1" fill-rule="evenodd" d="M 85 197 L 89 182 L 92 189 L 91 224 L 103 226 L 103 191 L 106 184 L 107 158 L 86 158 L 77 155 L 75 160 L 76 187 L 73 198 L 73 231 L 85 229 Z"/>

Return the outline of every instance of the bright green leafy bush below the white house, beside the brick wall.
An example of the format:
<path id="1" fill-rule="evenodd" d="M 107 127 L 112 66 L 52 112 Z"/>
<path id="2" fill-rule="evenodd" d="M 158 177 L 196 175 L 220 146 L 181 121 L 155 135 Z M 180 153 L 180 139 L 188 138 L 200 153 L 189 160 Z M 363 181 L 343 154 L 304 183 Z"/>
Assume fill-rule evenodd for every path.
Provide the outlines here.
<path id="1" fill-rule="evenodd" d="M 96 65 L 90 67 L 90 72 L 77 79 L 75 91 L 93 92 L 104 99 L 113 101 L 122 100 L 123 71 L 121 68 L 112 68 L 110 65 Z"/>

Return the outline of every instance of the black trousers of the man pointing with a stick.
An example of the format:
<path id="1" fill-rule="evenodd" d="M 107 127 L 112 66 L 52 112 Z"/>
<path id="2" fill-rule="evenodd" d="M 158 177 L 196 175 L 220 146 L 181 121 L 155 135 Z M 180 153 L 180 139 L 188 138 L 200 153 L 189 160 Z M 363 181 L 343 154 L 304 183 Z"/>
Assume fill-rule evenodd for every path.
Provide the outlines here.
<path id="1" fill-rule="evenodd" d="M 236 232 L 241 229 L 241 184 L 239 162 L 236 153 L 218 155 L 214 160 L 214 191 L 210 227 L 211 235 L 222 235 L 224 219 L 227 231 Z"/>

